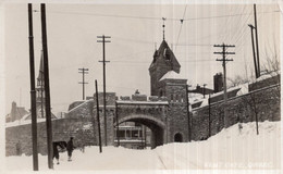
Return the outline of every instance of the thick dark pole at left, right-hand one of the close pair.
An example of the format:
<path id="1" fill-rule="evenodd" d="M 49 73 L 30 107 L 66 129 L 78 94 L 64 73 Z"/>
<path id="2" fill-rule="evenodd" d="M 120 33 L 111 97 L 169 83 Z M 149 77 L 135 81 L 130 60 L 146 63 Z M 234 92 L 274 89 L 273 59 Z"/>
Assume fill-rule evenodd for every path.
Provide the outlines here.
<path id="1" fill-rule="evenodd" d="M 50 88 L 49 88 L 49 65 L 48 65 L 48 48 L 46 32 L 46 4 L 40 4 L 41 10 L 41 32 L 42 32 L 42 50 L 44 50 L 44 72 L 45 72 L 45 95 L 46 95 L 46 129 L 47 129 L 47 151 L 48 167 L 53 169 L 53 148 L 52 148 L 52 122 L 50 109 Z"/>

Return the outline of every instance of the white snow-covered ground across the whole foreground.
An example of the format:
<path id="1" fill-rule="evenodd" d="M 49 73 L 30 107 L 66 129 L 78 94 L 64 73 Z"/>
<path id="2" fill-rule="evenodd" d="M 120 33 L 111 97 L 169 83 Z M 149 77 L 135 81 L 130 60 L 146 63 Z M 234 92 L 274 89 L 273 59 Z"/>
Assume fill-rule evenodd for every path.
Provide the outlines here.
<path id="1" fill-rule="evenodd" d="M 280 170 L 281 123 L 238 124 L 223 129 L 206 141 L 168 144 L 153 150 L 88 147 L 83 153 L 75 150 L 73 161 L 67 162 L 66 152 L 60 153 L 56 171 L 110 171 L 110 170 Z M 32 171 L 32 157 L 7 158 L 7 171 Z M 47 157 L 39 156 L 39 170 L 47 169 Z M 268 172 L 270 171 L 270 172 Z"/>

